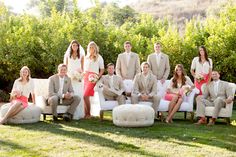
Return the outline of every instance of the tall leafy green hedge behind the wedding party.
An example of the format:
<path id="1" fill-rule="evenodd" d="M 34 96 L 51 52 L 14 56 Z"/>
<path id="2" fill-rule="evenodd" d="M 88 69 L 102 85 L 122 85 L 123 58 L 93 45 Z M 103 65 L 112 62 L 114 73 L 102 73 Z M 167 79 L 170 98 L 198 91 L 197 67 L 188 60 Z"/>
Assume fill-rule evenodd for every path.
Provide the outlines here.
<path id="1" fill-rule="evenodd" d="M 128 6 L 119 8 L 115 3 L 97 2 L 96 7 L 81 12 L 76 1 L 50 3 L 46 9 L 43 5 L 47 0 L 40 2 L 40 17 L 13 14 L 0 3 L 0 88 L 5 91 L 10 91 L 24 65 L 29 66 L 32 77 L 52 75 L 73 39 L 85 49 L 90 41 L 95 41 L 105 64 L 116 62 L 126 40 L 131 41 L 132 50 L 141 61 L 153 52 L 153 43 L 160 41 L 163 52 L 170 57 L 171 69 L 181 63 L 189 76 L 191 61 L 198 55 L 197 47 L 205 45 L 221 78 L 235 82 L 236 5 L 232 1 L 205 20 L 186 20 L 184 32 L 167 18 L 154 19 Z"/>

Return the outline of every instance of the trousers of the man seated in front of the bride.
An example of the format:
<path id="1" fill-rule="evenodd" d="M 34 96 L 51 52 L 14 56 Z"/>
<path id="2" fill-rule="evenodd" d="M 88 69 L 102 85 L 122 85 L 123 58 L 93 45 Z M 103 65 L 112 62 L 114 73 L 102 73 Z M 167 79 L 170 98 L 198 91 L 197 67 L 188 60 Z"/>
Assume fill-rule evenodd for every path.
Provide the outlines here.
<path id="1" fill-rule="evenodd" d="M 57 117 L 57 106 L 59 105 L 59 97 L 52 96 L 48 98 L 48 104 L 52 107 L 52 114 L 53 116 Z M 71 99 L 63 99 L 63 105 L 70 105 L 69 109 L 67 110 L 68 113 L 74 115 L 76 107 L 79 105 L 81 98 L 77 95 L 74 95 Z"/>

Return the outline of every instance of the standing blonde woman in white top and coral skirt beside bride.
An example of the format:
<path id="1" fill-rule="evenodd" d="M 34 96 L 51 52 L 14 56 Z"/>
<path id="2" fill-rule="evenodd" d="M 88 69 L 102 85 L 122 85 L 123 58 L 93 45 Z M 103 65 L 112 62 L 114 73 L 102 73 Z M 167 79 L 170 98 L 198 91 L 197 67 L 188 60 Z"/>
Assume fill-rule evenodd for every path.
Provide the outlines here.
<path id="1" fill-rule="evenodd" d="M 88 44 L 87 55 L 84 58 L 84 71 L 84 118 L 88 119 L 91 117 L 89 97 L 94 95 L 96 82 L 104 73 L 104 61 L 94 41 Z"/>

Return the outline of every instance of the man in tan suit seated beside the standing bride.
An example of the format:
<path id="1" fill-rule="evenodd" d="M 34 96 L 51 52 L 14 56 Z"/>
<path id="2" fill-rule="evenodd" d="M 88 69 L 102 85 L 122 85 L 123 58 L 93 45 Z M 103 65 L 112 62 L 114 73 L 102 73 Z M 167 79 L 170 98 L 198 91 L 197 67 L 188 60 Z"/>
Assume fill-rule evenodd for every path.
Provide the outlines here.
<path id="1" fill-rule="evenodd" d="M 49 77 L 49 98 L 48 104 L 52 107 L 53 120 L 57 121 L 57 106 L 70 105 L 67 113 L 63 115 L 66 121 L 73 118 L 76 107 L 80 103 L 80 97 L 74 95 L 71 79 L 66 75 L 67 67 L 65 64 L 58 66 L 58 73 Z"/>

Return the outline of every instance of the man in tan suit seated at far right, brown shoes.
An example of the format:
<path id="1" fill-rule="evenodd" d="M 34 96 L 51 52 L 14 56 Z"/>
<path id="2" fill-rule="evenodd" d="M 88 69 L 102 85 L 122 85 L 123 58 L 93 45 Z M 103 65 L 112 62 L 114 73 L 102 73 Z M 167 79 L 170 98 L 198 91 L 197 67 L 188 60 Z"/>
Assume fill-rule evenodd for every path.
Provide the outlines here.
<path id="1" fill-rule="evenodd" d="M 208 125 L 214 125 L 221 108 L 233 101 L 232 89 L 228 83 L 221 81 L 217 71 L 212 72 L 212 80 L 203 92 L 202 97 L 197 98 L 197 117 L 200 120 L 196 124 L 206 124 L 205 107 L 214 106 L 213 116 Z"/>

